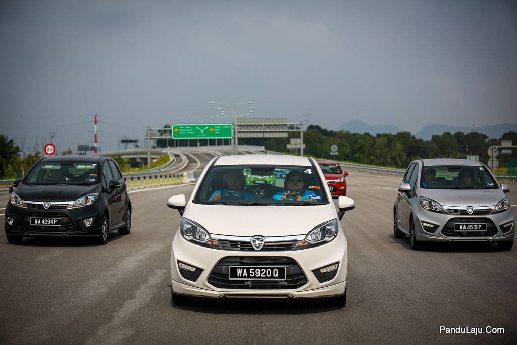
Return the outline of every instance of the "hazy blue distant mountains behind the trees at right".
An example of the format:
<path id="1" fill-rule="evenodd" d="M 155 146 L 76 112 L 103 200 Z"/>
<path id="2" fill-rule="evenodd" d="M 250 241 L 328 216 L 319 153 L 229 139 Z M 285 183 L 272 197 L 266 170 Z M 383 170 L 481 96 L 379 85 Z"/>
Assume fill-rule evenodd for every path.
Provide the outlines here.
<path id="1" fill-rule="evenodd" d="M 344 124 L 340 126 L 336 131 L 340 130 L 349 131 L 351 133 L 369 133 L 371 136 L 376 136 L 377 134 L 382 133 L 397 134 L 398 132 L 402 132 L 402 129 L 396 126 L 370 126 L 359 120 L 351 121 L 347 124 Z M 486 136 L 488 136 L 489 139 L 499 139 L 506 132 L 517 132 L 517 124 L 498 124 L 492 126 L 474 127 L 474 130 L 478 133 L 485 134 Z M 425 126 L 420 131 L 413 134 L 415 135 L 415 138 L 428 141 L 431 140 L 431 138 L 435 134 L 442 135 L 445 132 L 449 132 L 451 134 L 454 134 L 456 132 L 468 133 L 470 131 L 472 131 L 472 127 L 453 127 L 435 124 Z"/>

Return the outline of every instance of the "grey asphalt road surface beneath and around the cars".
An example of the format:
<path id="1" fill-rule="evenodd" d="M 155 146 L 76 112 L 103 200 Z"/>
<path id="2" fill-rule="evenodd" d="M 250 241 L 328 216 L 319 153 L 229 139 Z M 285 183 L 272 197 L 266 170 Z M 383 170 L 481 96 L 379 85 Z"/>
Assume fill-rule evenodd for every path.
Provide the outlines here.
<path id="1" fill-rule="evenodd" d="M 189 156 L 190 171 L 213 157 L 192 155 L 199 166 Z M 180 216 L 166 200 L 189 195 L 192 184 L 132 191 L 131 234 L 110 233 L 105 246 L 67 238 L 11 245 L 2 231 L 0 343 L 515 343 L 517 248 L 409 249 L 392 232 L 400 180 L 347 177 L 356 208 L 342 220 L 345 308 L 304 301 L 173 306 L 170 244 Z M 508 196 L 516 212 L 517 188 Z M 0 197 L 0 214 L 6 201 Z"/>

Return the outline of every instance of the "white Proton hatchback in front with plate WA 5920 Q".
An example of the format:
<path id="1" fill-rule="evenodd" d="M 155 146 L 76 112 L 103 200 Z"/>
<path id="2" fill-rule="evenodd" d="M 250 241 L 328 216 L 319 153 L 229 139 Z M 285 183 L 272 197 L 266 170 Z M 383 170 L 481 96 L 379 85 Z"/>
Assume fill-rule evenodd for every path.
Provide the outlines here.
<path id="1" fill-rule="evenodd" d="M 273 174 L 275 170 L 285 175 Z M 275 176 L 247 186 L 244 173 Z M 203 298 L 318 298 L 345 306 L 347 246 L 340 220 L 355 207 L 310 157 L 212 159 L 192 195 L 168 200 L 181 214 L 172 240 L 175 305 Z"/>

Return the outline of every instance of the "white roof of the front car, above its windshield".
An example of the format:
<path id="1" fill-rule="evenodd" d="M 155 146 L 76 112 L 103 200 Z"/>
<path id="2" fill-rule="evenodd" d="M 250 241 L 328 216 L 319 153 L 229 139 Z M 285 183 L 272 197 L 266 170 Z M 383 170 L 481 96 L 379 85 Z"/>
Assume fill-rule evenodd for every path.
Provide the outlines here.
<path id="1" fill-rule="evenodd" d="M 311 159 L 305 156 L 293 155 L 269 155 L 247 154 L 231 155 L 215 158 L 214 166 L 238 165 L 238 164 L 272 164 L 277 166 L 311 166 Z"/>

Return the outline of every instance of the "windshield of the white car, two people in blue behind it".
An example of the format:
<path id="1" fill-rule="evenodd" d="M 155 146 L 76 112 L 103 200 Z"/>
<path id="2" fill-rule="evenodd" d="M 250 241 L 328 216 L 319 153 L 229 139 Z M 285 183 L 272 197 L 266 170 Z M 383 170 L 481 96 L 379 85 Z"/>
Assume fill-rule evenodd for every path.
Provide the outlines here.
<path id="1" fill-rule="evenodd" d="M 207 171 L 196 203 L 219 205 L 305 205 L 328 203 L 314 167 L 215 166 Z"/>

